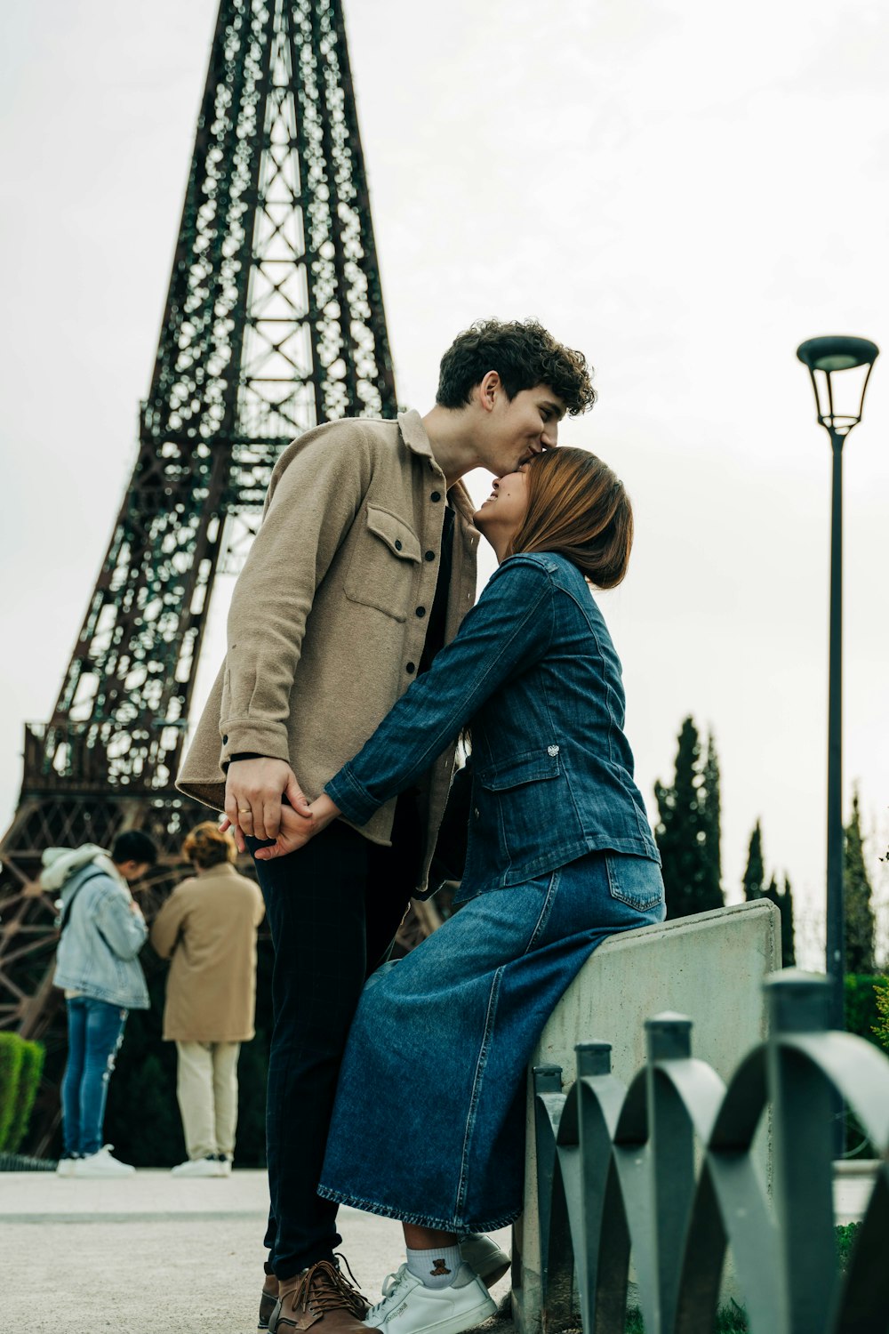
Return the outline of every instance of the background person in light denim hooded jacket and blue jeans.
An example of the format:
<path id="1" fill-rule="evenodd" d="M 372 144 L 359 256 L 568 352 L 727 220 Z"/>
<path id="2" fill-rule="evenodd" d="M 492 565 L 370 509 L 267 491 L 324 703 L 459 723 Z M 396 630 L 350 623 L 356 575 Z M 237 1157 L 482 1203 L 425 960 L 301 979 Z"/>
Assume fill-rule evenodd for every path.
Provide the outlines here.
<path id="1" fill-rule="evenodd" d="M 119 834 L 111 854 L 95 843 L 51 847 L 40 884 L 60 892 L 55 986 L 65 992 L 68 1063 L 61 1083 L 60 1177 L 128 1177 L 133 1167 L 101 1142 L 108 1082 L 129 1010 L 148 1009 L 139 951 L 148 927 L 129 884 L 157 860 L 140 830 Z"/>

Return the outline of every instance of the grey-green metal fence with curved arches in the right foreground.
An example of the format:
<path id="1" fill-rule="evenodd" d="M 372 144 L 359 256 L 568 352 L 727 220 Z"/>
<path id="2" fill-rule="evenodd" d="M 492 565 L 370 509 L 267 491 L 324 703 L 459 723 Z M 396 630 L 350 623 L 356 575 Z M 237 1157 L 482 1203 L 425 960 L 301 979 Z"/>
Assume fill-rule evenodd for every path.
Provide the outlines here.
<path id="1" fill-rule="evenodd" d="M 610 1046 L 576 1049 L 577 1079 L 534 1069 L 542 1325 L 625 1327 L 630 1253 L 646 1334 L 709 1334 L 726 1250 L 752 1334 L 889 1330 L 889 1061 L 828 1031 L 829 983 L 766 980 L 769 1038 L 726 1087 L 692 1057 L 692 1022 L 646 1023 L 648 1061 L 629 1087 Z M 881 1163 L 845 1269 L 833 1209 L 840 1095 Z M 753 1141 L 770 1123 L 772 1189 Z"/>

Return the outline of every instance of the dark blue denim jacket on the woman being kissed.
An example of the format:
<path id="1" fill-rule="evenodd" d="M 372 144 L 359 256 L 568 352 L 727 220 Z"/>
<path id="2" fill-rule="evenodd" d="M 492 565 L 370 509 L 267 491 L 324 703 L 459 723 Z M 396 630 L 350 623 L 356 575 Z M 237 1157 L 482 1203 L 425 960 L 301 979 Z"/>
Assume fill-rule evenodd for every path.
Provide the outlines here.
<path id="1" fill-rule="evenodd" d="M 474 772 L 460 899 L 594 850 L 660 864 L 624 712 L 620 659 L 577 567 L 549 552 L 510 556 L 456 639 L 325 791 L 364 824 L 469 724 Z"/>

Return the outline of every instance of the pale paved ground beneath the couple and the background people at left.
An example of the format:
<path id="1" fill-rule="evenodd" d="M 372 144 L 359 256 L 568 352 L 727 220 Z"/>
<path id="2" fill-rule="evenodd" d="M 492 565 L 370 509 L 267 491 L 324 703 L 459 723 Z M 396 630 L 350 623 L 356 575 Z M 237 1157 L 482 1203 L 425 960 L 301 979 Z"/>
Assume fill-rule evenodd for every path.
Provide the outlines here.
<path id="1" fill-rule="evenodd" d="M 263 1283 L 265 1174 L 120 1181 L 0 1173 L 0 1334 L 252 1334 Z M 369 1298 L 401 1263 L 401 1229 L 340 1210 Z M 496 1234 L 509 1247 L 509 1230 Z M 504 1278 L 496 1299 L 509 1291 Z"/>

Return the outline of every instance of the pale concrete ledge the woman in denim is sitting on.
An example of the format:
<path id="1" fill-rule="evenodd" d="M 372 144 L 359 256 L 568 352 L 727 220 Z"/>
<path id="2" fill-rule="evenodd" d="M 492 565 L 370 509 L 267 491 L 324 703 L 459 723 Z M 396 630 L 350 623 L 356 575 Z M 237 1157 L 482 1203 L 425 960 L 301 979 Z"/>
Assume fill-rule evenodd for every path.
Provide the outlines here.
<path id="1" fill-rule="evenodd" d="M 574 1078 L 574 1045 L 600 1039 L 610 1042 L 612 1070 L 629 1083 L 645 1063 L 645 1021 L 672 1010 L 693 1021 L 692 1054 L 728 1082 L 766 1037 L 762 980 L 780 966 L 781 914 L 768 899 L 613 935 L 568 987 L 530 1066 L 561 1066 L 566 1086 Z M 761 1133 L 768 1181 L 766 1150 Z M 513 1233 L 513 1317 L 521 1334 L 541 1327 L 536 1174 L 529 1077 L 525 1211 Z"/>

